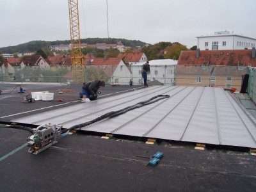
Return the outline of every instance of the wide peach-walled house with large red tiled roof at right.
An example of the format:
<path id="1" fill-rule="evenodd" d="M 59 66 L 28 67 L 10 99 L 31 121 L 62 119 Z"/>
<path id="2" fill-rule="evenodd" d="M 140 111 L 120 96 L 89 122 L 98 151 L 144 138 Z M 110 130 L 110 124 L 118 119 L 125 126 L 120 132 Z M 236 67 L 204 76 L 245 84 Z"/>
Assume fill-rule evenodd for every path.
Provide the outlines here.
<path id="1" fill-rule="evenodd" d="M 256 67 L 252 50 L 182 51 L 175 72 L 177 86 L 220 86 L 240 91 L 247 67 Z"/>

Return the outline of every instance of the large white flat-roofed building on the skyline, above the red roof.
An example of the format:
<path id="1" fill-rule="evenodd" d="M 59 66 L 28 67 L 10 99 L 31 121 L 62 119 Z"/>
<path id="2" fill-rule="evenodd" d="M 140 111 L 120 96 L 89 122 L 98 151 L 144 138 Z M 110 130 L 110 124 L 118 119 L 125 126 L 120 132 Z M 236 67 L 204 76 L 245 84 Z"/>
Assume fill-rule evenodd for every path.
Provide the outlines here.
<path id="1" fill-rule="evenodd" d="M 200 50 L 252 49 L 256 44 L 255 38 L 230 34 L 229 31 L 219 31 L 214 35 L 197 36 L 196 38 L 197 47 Z"/>

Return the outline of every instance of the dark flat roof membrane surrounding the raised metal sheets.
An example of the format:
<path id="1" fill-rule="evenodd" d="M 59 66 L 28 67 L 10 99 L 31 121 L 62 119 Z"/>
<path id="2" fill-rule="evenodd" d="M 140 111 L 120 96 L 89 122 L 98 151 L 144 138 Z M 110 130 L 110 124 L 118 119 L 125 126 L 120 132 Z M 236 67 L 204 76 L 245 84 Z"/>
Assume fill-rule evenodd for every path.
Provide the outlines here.
<path id="1" fill-rule="evenodd" d="M 22 85 L 27 93 L 54 92 L 54 100 L 64 101 L 20 102 L 26 93 L 9 93 L 17 84 L 0 83 L 0 90 L 6 93 L 0 95 L 3 125 L 15 118 L 50 113 L 52 109 L 81 102 L 77 99 L 81 84 Z M 60 90 L 63 94 L 58 93 Z M 139 86 L 106 86 L 97 102 L 139 90 Z M 26 147 L 30 132 L 0 127 L 1 191 L 253 191 L 256 188 L 256 158 L 249 155 L 247 148 L 206 145 L 205 150 L 195 150 L 192 142 L 157 140 L 155 145 L 147 145 L 145 138 L 114 134 L 111 140 L 104 140 L 100 139 L 104 134 L 90 133 L 60 136 L 58 143 L 34 155 Z M 157 151 L 163 152 L 163 158 L 157 166 L 147 166 L 149 157 Z"/>

